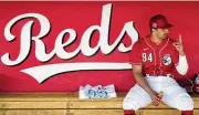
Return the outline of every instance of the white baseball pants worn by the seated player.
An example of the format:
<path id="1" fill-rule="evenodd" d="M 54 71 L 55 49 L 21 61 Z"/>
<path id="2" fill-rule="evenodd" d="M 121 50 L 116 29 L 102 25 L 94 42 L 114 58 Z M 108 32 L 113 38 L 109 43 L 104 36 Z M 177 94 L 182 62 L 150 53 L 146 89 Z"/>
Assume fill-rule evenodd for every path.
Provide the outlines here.
<path id="1" fill-rule="evenodd" d="M 169 76 L 146 76 L 145 77 L 149 86 L 159 93 L 164 92 L 163 102 L 170 107 L 179 111 L 192 111 L 193 101 L 189 94 L 179 84 Z M 124 109 L 137 111 L 151 103 L 151 98 L 148 93 L 145 92 L 138 84 L 129 90 L 126 97 L 123 101 Z"/>

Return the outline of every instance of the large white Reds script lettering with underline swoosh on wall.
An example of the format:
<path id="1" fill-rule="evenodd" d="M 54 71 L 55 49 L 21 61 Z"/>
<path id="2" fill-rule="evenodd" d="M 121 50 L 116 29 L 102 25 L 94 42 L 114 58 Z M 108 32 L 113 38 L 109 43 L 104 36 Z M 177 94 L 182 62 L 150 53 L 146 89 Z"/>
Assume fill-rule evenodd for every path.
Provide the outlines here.
<path id="1" fill-rule="evenodd" d="M 2 56 L 0 56 L 1 62 L 4 65 L 8 66 L 14 66 L 23 63 L 27 58 L 30 55 L 32 42 L 35 44 L 35 59 L 39 62 L 48 62 L 51 59 L 53 59 L 54 55 L 60 58 L 61 60 L 71 60 L 78 55 L 78 53 L 82 53 L 84 56 L 94 56 L 96 55 L 97 51 L 101 50 L 104 55 L 111 54 L 115 49 L 117 49 L 122 53 L 126 53 L 132 50 L 133 44 L 138 40 L 138 32 L 134 28 L 134 22 L 129 21 L 126 22 L 121 31 L 118 33 L 118 36 L 115 39 L 115 41 L 109 44 L 109 23 L 112 15 L 112 3 L 103 6 L 102 10 L 102 19 L 101 24 L 95 24 L 88 27 L 82 38 L 78 46 L 73 52 L 67 52 L 65 48 L 67 45 L 73 44 L 73 42 L 76 41 L 77 32 L 74 29 L 66 28 L 62 30 L 54 41 L 54 49 L 51 50 L 51 52 L 45 52 L 46 44 L 42 41 L 44 36 L 46 36 L 51 31 L 51 22 L 50 20 L 40 13 L 23 13 L 20 15 L 17 15 L 12 20 L 8 22 L 8 24 L 4 28 L 4 38 L 9 42 L 13 42 L 17 36 L 12 33 L 13 27 L 15 27 L 15 23 L 19 21 L 22 21 L 24 19 L 36 19 L 40 23 L 40 32 L 38 35 L 32 34 L 32 25 L 34 24 L 33 20 L 28 21 L 22 30 L 21 30 L 21 38 L 20 38 L 20 53 L 15 60 L 10 59 L 10 53 L 6 52 Z M 92 33 L 98 31 L 100 33 L 100 40 L 98 43 L 91 48 L 91 40 L 92 40 Z M 63 40 L 65 35 L 69 34 L 67 41 Z M 126 46 L 123 41 L 124 35 L 128 34 L 129 39 L 132 40 L 132 44 Z M 28 69 L 22 69 L 21 72 L 27 73 L 34 77 L 39 83 L 44 82 L 50 76 L 64 73 L 64 72 L 74 72 L 74 71 L 85 71 L 85 70 L 129 70 L 132 69 L 132 65 L 129 62 L 126 63 L 113 63 L 113 62 L 75 62 L 75 63 L 53 63 L 53 64 L 45 64 L 45 65 L 36 65 L 36 66 L 30 66 Z"/>

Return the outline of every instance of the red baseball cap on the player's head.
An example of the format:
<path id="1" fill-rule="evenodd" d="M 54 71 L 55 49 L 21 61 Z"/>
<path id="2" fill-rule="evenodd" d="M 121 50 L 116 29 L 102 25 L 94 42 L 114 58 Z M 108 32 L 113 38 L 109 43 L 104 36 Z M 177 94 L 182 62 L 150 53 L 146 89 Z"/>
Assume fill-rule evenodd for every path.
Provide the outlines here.
<path id="1" fill-rule="evenodd" d="M 150 18 L 149 27 L 150 29 L 167 29 L 171 28 L 172 24 L 168 23 L 165 15 L 156 14 Z"/>

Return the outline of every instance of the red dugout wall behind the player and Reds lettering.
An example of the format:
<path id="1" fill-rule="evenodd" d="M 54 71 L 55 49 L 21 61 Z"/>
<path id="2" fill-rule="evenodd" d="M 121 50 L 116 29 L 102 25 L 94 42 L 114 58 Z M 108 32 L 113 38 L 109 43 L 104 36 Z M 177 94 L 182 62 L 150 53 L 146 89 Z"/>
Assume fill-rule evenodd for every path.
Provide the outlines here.
<path id="1" fill-rule="evenodd" d="M 130 39 L 129 34 L 125 34 L 117 43 L 117 45 L 113 46 L 113 49 L 109 51 L 107 49 L 107 52 L 105 52 L 105 48 L 104 52 L 102 51 L 102 49 L 98 49 L 93 50 L 94 53 L 92 53 L 92 50 L 91 52 L 85 51 L 87 53 L 82 53 L 82 50 L 80 50 L 80 52 L 74 53 L 74 56 L 72 56 L 72 53 L 77 50 L 81 42 L 85 41 L 83 40 L 83 34 L 85 33 L 85 31 L 93 25 L 102 25 L 101 22 L 103 19 L 103 7 L 107 4 L 112 7 L 112 17 L 109 18 L 108 29 L 109 35 L 106 38 L 109 45 L 117 41 L 125 24 L 132 21 L 134 22 L 134 24 L 132 25 L 132 31 L 133 29 L 135 29 L 139 36 L 148 34 L 149 18 L 154 14 L 161 13 L 165 14 L 168 18 L 169 22 L 175 25 L 172 29 L 170 29 L 170 36 L 175 40 L 178 40 L 178 34 L 180 33 L 182 35 L 182 42 L 185 44 L 185 50 L 190 66 L 189 72 L 186 76 L 192 77 L 195 73 L 199 72 L 199 2 L 1 2 L 0 91 L 77 91 L 80 85 L 85 84 L 115 84 L 117 91 L 128 91 L 135 83 L 132 75 L 132 70 L 128 66 L 129 52 L 128 50 L 126 50 L 126 52 L 122 52 L 118 50 L 118 48 L 121 43 L 124 43 L 126 48 L 133 44 L 133 42 L 135 42 L 134 40 L 136 40 L 136 33 L 132 34 L 134 39 Z M 105 12 L 107 13 L 107 11 L 108 10 L 106 10 Z M 42 43 L 45 44 L 46 54 L 52 53 L 52 51 L 55 49 L 55 41 L 57 40 L 57 35 L 61 34 L 63 30 L 72 29 L 76 32 L 76 40 L 69 43 L 67 46 L 64 48 L 64 51 L 69 53 L 69 55 L 64 56 L 65 59 L 62 59 L 63 52 L 61 52 L 61 55 L 53 55 L 52 53 L 52 55 L 46 56 L 46 60 L 44 60 L 44 56 L 42 56 L 43 59 L 41 60 L 44 60 L 43 62 L 41 60 L 39 61 L 36 54 L 40 55 L 40 53 L 35 53 L 36 44 L 39 44 L 39 42 L 35 43 L 35 41 L 33 41 L 32 39 L 30 42 L 28 41 L 28 39 L 21 39 L 28 38 L 28 35 L 39 35 L 39 33 L 41 32 L 41 28 L 48 30 L 48 27 L 42 27 L 39 20 L 35 18 L 25 18 L 13 23 L 10 33 L 14 35 L 15 39 L 11 42 L 7 40 L 10 38 L 10 35 L 8 35 L 8 38 L 4 35 L 6 28 L 8 27 L 7 24 L 12 19 L 25 13 L 39 13 L 49 20 L 51 31 L 48 35 L 43 35 L 43 38 L 41 39 Z M 106 19 L 107 15 L 104 15 L 104 18 Z M 34 24 L 31 25 L 30 21 L 33 21 Z M 45 22 L 44 20 L 42 21 Z M 107 29 L 108 27 L 106 25 L 105 28 Z M 30 31 L 31 34 L 28 34 L 28 29 L 32 29 Z M 21 35 L 22 30 L 24 31 L 24 36 Z M 9 33 L 9 31 L 7 32 Z M 95 31 L 94 34 L 91 35 L 91 49 L 95 49 L 100 43 L 100 39 L 104 39 L 101 38 L 100 34 L 101 33 L 98 31 Z M 70 35 L 66 34 L 63 38 L 62 42 L 69 42 L 69 38 Z M 7 65 L 9 62 L 3 62 L 2 56 L 6 53 L 9 53 L 10 61 L 15 61 L 22 50 L 20 48 L 22 41 L 24 46 L 23 50 L 25 51 L 30 48 L 30 52 L 20 63 Z M 29 45 L 29 43 L 31 46 Z M 103 43 L 105 42 L 101 43 L 101 48 L 102 45 L 104 45 Z M 88 45 L 82 45 L 83 49 L 86 49 L 86 46 Z M 38 52 L 40 51 L 43 50 L 38 50 Z M 94 66 L 86 65 L 85 63 L 104 64 Z M 106 63 L 109 64 L 106 65 Z M 57 65 L 52 69 L 43 67 L 43 71 L 38 69 L 39 71 L 34 73 L 42 76 L 42 73 L 51 73 L 51 70 L 74 70 L 54 74 L 52 75 L 52 77 L 49 77 L 41 83 L 39 83 L 33 76 L 22 72 L 22 70 L 25 69 L 42 65 L 48 66 L 50 64 L 64 64 L 64 66 Z M 76 69 L 76 66 L 81 65 L 83 66 L 83 71 L 78 71 L 78 69 Z M 85 69 L 85 66 L 87 66 L 87 70 Z M 185 79 L 185 76 L 180 76 L 177 73 L 176 77 Z"/>

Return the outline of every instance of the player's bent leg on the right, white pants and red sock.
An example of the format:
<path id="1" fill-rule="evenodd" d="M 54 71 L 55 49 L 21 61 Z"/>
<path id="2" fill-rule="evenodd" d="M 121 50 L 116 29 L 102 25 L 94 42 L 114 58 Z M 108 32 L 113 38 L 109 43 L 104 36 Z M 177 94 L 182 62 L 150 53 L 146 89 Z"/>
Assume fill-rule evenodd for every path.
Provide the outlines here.
<path id="1" fill-rule="evenodd" d="M 181 115 L 192 115 L 192 98 L 174 79 L 168 79 L 167 84 L 164 87 L 165 95 L 163 102 L 170 107 L 181 111 Z"/>

